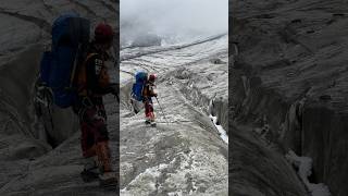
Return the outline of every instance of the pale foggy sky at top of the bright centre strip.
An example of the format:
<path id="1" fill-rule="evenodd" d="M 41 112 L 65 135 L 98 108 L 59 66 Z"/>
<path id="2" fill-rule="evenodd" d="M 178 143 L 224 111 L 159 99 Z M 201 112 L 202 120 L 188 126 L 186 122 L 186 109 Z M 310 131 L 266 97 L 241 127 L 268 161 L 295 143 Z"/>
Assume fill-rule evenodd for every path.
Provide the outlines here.
<path id="1" fill-rule="evenodd" d="M 121 0 L 122 24 L 137 34 L 214 35 L 228 30 L 228 0 Z M 128 34 L 128 33 L 127 33 Z"/>

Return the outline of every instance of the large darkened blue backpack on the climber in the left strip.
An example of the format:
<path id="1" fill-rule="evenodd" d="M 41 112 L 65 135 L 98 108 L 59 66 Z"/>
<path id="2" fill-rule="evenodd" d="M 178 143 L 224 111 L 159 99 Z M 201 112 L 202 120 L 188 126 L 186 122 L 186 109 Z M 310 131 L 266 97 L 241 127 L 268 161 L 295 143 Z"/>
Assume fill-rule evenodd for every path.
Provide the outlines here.
<path id="1" fill-rule="evenodd" d="M 53 102 L 67 108 L 77 97 L 75 72 L 86 57 L 89 42 L 88 20 L 77 14 L 58 17 L 52 25 L 51 51 L 44 52 L 39 81 L 52 91 Z"/>

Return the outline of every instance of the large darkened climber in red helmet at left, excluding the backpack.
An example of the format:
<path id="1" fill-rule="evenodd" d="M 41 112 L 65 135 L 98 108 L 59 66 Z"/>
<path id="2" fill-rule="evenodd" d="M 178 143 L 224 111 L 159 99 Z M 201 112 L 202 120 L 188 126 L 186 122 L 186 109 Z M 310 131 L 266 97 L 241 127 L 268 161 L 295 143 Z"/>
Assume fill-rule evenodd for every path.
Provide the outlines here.
<path id="1" fill-rule="evenodd" d="M 114 32 L 110 25 L 97 25 L 85 62 L 78 70 L 78 97 L 74 105 L 80 122 L 83 155 L 89 160 L 82 175 L 89 181 L 89 177 L 94 179 L 99 173 L 100 183 L 105 186 L 116 184 L 116 174 L 111 164 L 107 112 L 102 100 L 102 96 L 117 96 L 119 91 L 117 85 L 110 82 L 105 66 L 105 61 L 110 59 L 108 50 L 112 47 L 113 37 Z"/>

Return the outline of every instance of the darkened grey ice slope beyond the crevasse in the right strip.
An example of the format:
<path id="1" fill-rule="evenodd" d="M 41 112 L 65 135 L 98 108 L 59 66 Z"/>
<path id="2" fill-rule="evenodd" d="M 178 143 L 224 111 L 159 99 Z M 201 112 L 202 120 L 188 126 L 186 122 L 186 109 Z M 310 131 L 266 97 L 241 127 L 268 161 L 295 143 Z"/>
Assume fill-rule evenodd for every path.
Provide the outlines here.
<path id="1" fill-rule="evenodd" d="M 313 159 L 312 183 L 347 195 L 347 3 L 233 3 L 234 124 L 268 126 L 277 151 Z"/>

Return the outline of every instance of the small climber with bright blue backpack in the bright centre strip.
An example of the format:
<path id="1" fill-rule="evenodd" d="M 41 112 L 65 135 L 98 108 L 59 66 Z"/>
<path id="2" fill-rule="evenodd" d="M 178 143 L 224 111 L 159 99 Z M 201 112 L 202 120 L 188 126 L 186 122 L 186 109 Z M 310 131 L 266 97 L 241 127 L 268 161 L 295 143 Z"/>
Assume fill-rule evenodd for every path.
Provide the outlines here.
<path id="1" fill-rule="evenodd" d="M 158 96 L 156 93 L 156 74 L 148 74 L 146 72 L 138 72 L 135 75 L 136 82 L 132 88 L 132 96 L 138 101 L 142 101 L 145 108 L 145 123 L 156 126 L 156 119 L 153 112 L 152 97 Z"/>

